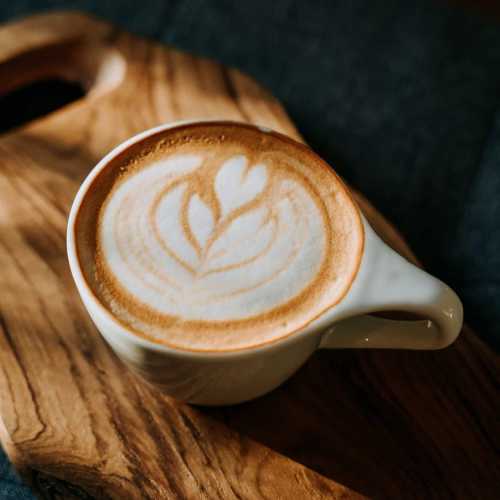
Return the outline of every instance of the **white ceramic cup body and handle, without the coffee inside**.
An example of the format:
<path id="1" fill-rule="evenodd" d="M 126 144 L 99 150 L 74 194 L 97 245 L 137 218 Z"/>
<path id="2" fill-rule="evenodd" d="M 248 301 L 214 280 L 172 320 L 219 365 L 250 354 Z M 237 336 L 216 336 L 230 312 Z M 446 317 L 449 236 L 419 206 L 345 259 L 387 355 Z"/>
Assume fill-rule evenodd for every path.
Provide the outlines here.
<path id="1" fill-rule="evenodd" d="M 363 255 L 349 291 L 322 316 L 286 338 L 234 352 L 203 353 L 167 347 L 129 331 L 86 283 L 76 252 L 76 215 L 93 180 L 110 160 L 152 134 L 185 123 L 147 130 L 111 151 L 81 185 L 69 216 L 68 258 L 80 296 L 102 336 L 132 371 L 179 400 L 227 405 L 273 390 L 316 349 L 440 349 L 456 339 L 463 317 L 457 295 L 383 243 L 364 217 Z M 395 321 L 367 315 L 375 311 L 407 311 L 427 319 Z"/>

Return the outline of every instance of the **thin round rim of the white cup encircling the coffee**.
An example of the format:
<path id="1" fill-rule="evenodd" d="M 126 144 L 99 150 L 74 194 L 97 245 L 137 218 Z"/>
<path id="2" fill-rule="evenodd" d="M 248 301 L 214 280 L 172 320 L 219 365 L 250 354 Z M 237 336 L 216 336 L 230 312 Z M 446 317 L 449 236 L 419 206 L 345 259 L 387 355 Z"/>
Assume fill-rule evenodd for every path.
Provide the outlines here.
<path id="1" fill-rule="evenodd" d="M 357 261 L 357 266 L 356 269 L 353 273 L 352 279 L 349 283 L 349 285 L 346 287 L 344 290 L 344 293 L 337 299 L 337 301 L 333 304 L 330 305 L 327 309 L 322 311 L 318 316 L 312 318 L 310 321 L 308 321 L 305 325 L 303 325 L 301 328 L 289 333 L 288 335 L 277 338 L 274 340 L 267 341 L 263 344 L 258 344 L 256 346 L 249 346 L 249 347 L 242 347 L 242 348 L 237 348 L 237 349 L 228 349 L 224 351 L 215 351 L 215 350 L 190 350 L 190 349 L 181 349 L 181 348 L 176 348 L 175 346 L 170 346 L 167 344 L 163 344 L 160 342 L 154 342 L 152 340 L 149 340 L 146 337 L 139 336 L 137 334 L 132 333 L 129 331 L 128 328 L 126 328 L 125 325 L 123 325 L 120 321 L 118 321 L 113 314 L 108 311 L 104 305 L 98 300 L 98 298 L 95 296 L 95 293 L 87 283 L 87 280 L 84 276 L 84 273 L 81 269 L 80 265 L 80 260 L 78 258 L 78 252 L 76 248 L 76 238 L 75 238 L 75 231 L 76 231 L 76 220 L 77 216 L 80 210 L 80 207 L 82 205 L 82 202 L 89 190 L 89 188 L 92 186 L 95 178 L 99 175 L 99 173 L 118 155 L 120 155 L 122 152 L 127 150 L 130 146 L 133 144 L 136 144 L 143 139 L 146 139 L 147 137 L 150 137 L 154 134 L 161 133 L 165 130 L 169 130 L 172 128 L 177 128 L 177 127 L 182 127 L 185 125 L 196 125 L 196 124 L 218 124 L 218 125 L 244 125 L 247 127 L 254 127 L 261 132 L 264 133 L 272 133 L 275 135 L 278 135 L 280 137 L 284 137 L 289 141 L 293 141 L 298 145 L 299 147 L 306 148 L 308 151 L 312 151 L 307 145 L 302 144 L 295 139 L 292 139 L 288 137 L 285 134 L 282 134 L 281 132 L 277 132 L 269 127 L 264 127 L 264 126 L 259 126 L 251 123 L 246 123 L 246 122 L 240 122 L 236 120 L 224 120 L 224 119 L 195 119 L 195 120 L 179 120 L 175 122 L 169 122 L 166 124 L 158 125 L 156 127 L 149 128 L 147 130 L 144 130 L 142 132 L 139 132 L 138 134 L 126 139 L 122 143 L 120 143 L 118 146 L 114 147 L 110 152 L 108 152 L 88 173 L 87 177 L 84 179 L 82 184 L 80 185 L 77 194 L 73 200 L 73 203 L 71 205 L 71 210 L 70 214 L 68 217 L 68 223 L 67 223 L 67 232 L 66 232 L 66 247 L 67 247 L 67 255 L 68 255 L 68 261 L 70 265 L 70 271 L 73 276 L 73 279 L 75 281 L 76 287 L 78 289 L 79 294 L 81 295 L 81 298 L 83 299 L 83 296 L 85 296 L 86 300 L 90 300 L 93 304 L 93 306 L 97 309 L 99 312 L 99 315 L 101 318 L 103 318 L 106 322 L 110 323 L 113 325 L 113 334 L 112 336 L 115 336 L 116 334 L 121 337 L 124 341 L 132 342 L 136 345 L 139 345 L 143 348 L 147 348 L 149 350 L 153 350 L 155 352 L 161 352 L 161 353 L 168 353 L 170 355 L 174 355 L 176 357 L 181 357 L 181 358 L 203 358 L 203 359 L 210 359 L 210 360 L 221 360 L 221 359 L 234 359 L 234 358 L 244 358 L 248 356 L 252 356 L 256 353 L 262 353 L 262 352 L 268 352 L 270 350 L 274 350 L 276 348 L 282 348 L 285 347 L 288 344 L 294 343 L 299 341 L 304 335 L 312 335 L 315 333 L 316 330 L 318 329 L 323 329 L 324 327 L 316 327 L 314 328 L 314 325 L 318 323 L 318 320 L 321 319 L 328 311 L 330 311 L 332 308 L 335 306 L 339 305 L 341 302 L 344 301 L 344 299 L 349 295 L 349 292 L 352 288 L 352 285 L 354 281 L 356 280 L 356 277 L 359 274 L 359 270 L 361 268 L 361 261 L 365 252 L 365 242 L 366 242 L 366 235 L 365 235 L 365 227 L 364 227 L 364 218 L 361 214 L 361 210 L 359 209 L 356 201 L 354 200 L 352 194 L 349 191 L 349 188 L 345 185 L 343 180 L 338 176 L 338 174 L 333 171 L 334 175 L 337 176 L 339 182 L 341 185 L 344 187 L 348 197 L 352 201 L 352 204 L 355 208 L 355 211 L 358 215 L 359 218 L 359 227 L 361 230 L 361 244 L 360 244 L 360 251 L 359 251 L 359 256 L 358 256 L 358 261 Z M 313 154 L 317 156 L 317 154 L 312 151 Z M 324 160 L 323 160 L 324 161 Z M 330 167 L 331 168 L 331 167 Z M 87 309 L 87 305 L 85 304 L 84 301 L 84 306 Z M 88 311 L 87 311 L 88 312 Z M 99 328 L 98 328 L 99 329 Z M 319 344 L 319 339 L 318 339 L 318 344 Z"/>

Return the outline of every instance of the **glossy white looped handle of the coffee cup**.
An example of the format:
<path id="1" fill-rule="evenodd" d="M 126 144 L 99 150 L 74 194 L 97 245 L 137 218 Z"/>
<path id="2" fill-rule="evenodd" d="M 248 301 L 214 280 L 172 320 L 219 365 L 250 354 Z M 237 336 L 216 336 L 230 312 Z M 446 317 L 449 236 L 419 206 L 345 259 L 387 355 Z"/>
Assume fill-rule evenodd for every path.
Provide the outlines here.
<path id="1" fill-rule="evenodd" d="M 319 347 L 441 349 L 450 345 L 463 322 L 455 292 L 388 247 L 366 221 L 364 225 L 360 270 L 347 300 L 339 305 L 340 321 L 326 329 Z M 425 319 L 396 321 L 366 315 L 382 311 L 406 311 Z"/>

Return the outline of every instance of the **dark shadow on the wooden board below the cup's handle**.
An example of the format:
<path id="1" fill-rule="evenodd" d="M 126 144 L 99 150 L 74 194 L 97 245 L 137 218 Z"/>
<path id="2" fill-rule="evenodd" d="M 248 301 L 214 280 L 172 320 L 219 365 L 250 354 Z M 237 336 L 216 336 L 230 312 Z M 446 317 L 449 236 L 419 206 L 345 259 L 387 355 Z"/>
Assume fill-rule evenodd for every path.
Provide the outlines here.
<path id="1" fill-rule="evenodd" d="M 491 361 L 466 353 L 470 342 L 318 352 L 263 398 L 200 411 L 369 497 L 476 498 L 480 484 L 494 498 L 498 380 Z"/>

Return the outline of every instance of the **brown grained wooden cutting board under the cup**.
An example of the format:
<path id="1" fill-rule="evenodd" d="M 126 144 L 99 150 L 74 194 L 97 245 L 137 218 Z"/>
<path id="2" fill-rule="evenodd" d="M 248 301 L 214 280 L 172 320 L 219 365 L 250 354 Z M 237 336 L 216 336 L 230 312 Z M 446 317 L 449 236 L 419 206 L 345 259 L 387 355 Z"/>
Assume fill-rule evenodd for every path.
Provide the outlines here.
<path id="1" fill-rule="evenodd" d="M 439 352 L 318 352 L 278 390 L 223 409 L 136 381 L 91 324 L 66 262 L 82 179 L 125 138 L 172 120 L 300 136 L 238 71 L 87 16 L 0 29 L 1 94 L 50 77 L 87 94 L 0 136 L 0 436 L 41 497 L 498 498 L 500 366 L 467 328 Z"/>

